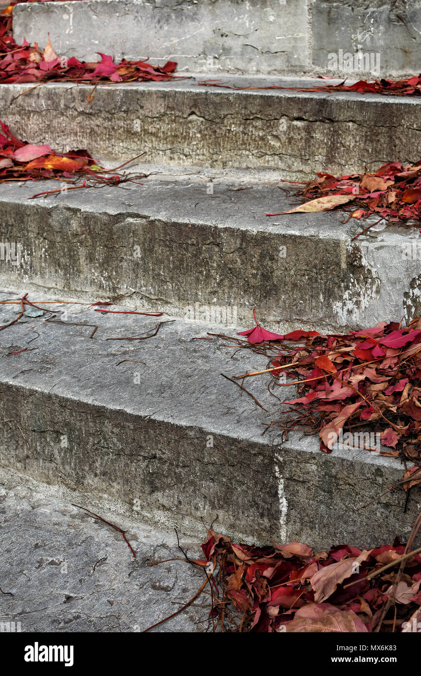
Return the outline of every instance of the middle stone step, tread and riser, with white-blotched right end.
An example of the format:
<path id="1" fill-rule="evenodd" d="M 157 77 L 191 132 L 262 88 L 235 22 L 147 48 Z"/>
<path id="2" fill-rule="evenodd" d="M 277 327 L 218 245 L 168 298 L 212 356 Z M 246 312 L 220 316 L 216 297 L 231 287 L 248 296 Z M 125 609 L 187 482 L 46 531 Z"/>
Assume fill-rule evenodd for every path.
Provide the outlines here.
<path id="1" fill-rule="evenodd" d="M 151 176 L 36 200 L 51 183 L 1 185 L 0 280 L 88 299 L 134 293 L 151 312 L 234 326 L 251 325 L 257 308 L 281 332 L 420 315 L 418 228 L 352 241 L 363 226 L 338 212 L 266 217 L 297 203 L 276 184 L 212 179 Z M 11 259 L 20 245 L 20 264 L 7 245 Z"/>

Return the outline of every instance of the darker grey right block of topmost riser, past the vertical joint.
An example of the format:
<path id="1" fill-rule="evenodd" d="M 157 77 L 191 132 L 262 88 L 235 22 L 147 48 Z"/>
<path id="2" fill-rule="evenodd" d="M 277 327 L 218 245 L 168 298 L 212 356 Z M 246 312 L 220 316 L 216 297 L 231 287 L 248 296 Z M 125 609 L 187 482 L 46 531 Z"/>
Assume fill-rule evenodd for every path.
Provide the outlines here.
<path id="1" fill-rule="evenodd" d="M 312 34 L 313 64 L 324 72 L 329 71 L 328 54 L 339 49 L 353 55 L 378 53 L 376 76 L 411 76 L 420 71 L 420 0 L 314 0 Z M 330 71 L 335 76 L 349 74 Z"/>

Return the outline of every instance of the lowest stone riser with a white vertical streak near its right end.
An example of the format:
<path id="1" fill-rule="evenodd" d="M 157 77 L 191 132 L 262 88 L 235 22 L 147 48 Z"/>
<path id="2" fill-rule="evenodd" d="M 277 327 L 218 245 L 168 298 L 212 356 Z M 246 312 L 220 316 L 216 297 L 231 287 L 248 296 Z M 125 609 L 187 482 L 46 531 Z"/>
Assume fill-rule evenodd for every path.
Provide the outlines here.
<path id="1" fill-rule="evenodd" d="M 218 514 L 218 530 L 262 544 L 376 546 L 396 533 L 407 537 L 419 511 L 417 491 L 406 514 L 403 491 L 395 491 L 349 518 L 350 510 L 400 481 L 400 468 L 209 437 L 199 427 L 110 412 L 17 385 L 2 385 L 0 393 L 2 466 L 84 491 L 86 500 L 92 493 L 116 499 L 126 504 L 126 514 L 190 535 L 203 532 L 201 518 L 209 524 Z M 213 448 L 207 448 L 210 438 Z"/>

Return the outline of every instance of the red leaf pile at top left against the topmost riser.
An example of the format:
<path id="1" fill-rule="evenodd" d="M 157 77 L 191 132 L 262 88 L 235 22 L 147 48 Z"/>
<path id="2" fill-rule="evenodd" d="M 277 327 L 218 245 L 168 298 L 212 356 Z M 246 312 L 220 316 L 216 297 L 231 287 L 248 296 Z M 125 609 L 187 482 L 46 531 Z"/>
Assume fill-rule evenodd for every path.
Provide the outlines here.
<path id="1" fill-rule="evenodd" d="M 177 64 L 168 61 L 164 66 L 152 66 L 146 60 L 126 61 L 119 64 L 106 54 L 101 62 L 79 61 L 58 57 L 50 41 L 45 49 L 24 41 L 16 45 L 11 25 L 12 3 L 0 15 L 0 82 L 141 82 L 143 80 L 169 80 L 174 77 Z"/>

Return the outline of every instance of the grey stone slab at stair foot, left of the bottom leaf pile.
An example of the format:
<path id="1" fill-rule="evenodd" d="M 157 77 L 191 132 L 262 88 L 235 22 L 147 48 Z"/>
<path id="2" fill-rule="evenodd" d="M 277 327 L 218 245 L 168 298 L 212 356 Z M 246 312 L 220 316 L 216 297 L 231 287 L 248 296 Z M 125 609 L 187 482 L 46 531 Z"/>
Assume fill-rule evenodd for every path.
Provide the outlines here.
<path id="1" fill-rule="evenodd" d="M 120 533 L 72 507 L 80 504 L 78 494 L 46 491 L 14 473 L 0 473 L 0 586 L 14 594 L 1 595 L 0 625 L 6 623 L 6 631 L 9 623 L 12 631 L 22 632 L 143 631 L 187 603 L 201 586 L 203 573 L 188 564 L 150 566 L 182 556 L 174 531 L 95 506 L 97 514 L 127 529 L 134 558 Z M 89 498 L 82 499 L 93 509 Z M 182 537 L 181 544 L 199 553 L 197 542 Z M 205 631 L 203 598 L 152 631 Z"/>

